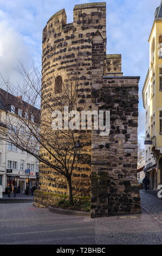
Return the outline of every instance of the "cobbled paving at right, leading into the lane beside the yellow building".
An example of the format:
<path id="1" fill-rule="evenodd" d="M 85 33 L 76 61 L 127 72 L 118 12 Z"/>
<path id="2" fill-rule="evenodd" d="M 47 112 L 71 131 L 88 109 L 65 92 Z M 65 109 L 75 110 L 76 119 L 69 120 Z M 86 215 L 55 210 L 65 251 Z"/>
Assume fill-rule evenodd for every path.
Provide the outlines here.
<path id="1" fill-rule="evenodd" d="M 140 191 L 142 213 L 98 218 L 95 225 L 97 244 L 162 244 L 162 203 L 151 193 Z"/>

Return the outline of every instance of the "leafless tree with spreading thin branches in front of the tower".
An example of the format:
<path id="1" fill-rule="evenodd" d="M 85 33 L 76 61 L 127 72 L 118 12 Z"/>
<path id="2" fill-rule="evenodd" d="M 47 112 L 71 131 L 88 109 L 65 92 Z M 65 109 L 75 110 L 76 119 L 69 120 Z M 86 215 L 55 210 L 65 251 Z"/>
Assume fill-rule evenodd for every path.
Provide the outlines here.
<path id="1" fill-rule="evenodd" d="M 6 106 L 9 105 L 10 93 L 21 95 L 15 97 L 15 115 L 11 117 L 7 109 L 3 119 L 3 124 L 7 127 L 1 131 L 4 139 L 36 157 L 42 166 L 49 167 L 53 172 L 66 177 L 70 204 L 73 204 L 72 173 L 76 159 L 74 146 L 77 132 L 76 129 L 54 130 L 53 113 L 63 113 L 64 106 L 69 110 L 76 109 L 77 70 L 78 65 L 70 77 L 63 72 L 63 79 L 60 74 L 52 74 L 49 84 L 41 84 L 42 76 L 34 65 L 27 71 L 23 64 L 19 63 L 17 71 L 23 78 L 23 85 L 15 87 L 9 81 L 4 81 L 9 93 L 4 95 L 1 91 L 0 94 L 4 97 Z M 17 109 L 21 109 L 21 114 Z M 57 118 L 58 116 L 59 114 L 55 115 Z M 69 122 L 69 119 L 65 121 L 64 115 L 61 115 L 61 119 L 64 125 Z"/>

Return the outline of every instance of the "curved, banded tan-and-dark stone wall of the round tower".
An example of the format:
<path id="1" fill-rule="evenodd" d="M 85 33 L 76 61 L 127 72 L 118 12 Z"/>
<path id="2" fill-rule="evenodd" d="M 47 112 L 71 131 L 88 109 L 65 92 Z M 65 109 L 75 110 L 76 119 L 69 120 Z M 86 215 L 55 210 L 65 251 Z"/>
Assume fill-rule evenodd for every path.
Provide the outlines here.
<path id="1" fill-rule="evenodd" d="M 67 24 L 64 9 L 53 15 L 43 29 L 42 95 L 50 99 L 54 92 L 55 77 L 62 76 L 64 83 L 75 80 L 78 63 L 77 110 L 91 109 L 92 81 L 92 38 L 99 30 L 104 41 L 106 60 L 106 3 L 75 5 L 73 23 Z M 79 56 L 79 57 L 78 57 Z M 54 106 L 56 102 L 49 101 Z M 42 105 L 46 115 L 48 105 Z M 47 118 L 49 118 L 47 116 Z M 83 154 L 91 155 L 91 131 L 78 131 L 77 137 L 83 144 Z M 46 151 L 44 157 L 49 157 Z M 52 160 L 53 161 L 53 160 Z M 90 196 L 90 172 L 87 161 L 75 162 L 73 192 L 77 196 Z M 40 190 L 56 194 L 67 194 L 67 181 L 44 164 L 40 166 Z"/>

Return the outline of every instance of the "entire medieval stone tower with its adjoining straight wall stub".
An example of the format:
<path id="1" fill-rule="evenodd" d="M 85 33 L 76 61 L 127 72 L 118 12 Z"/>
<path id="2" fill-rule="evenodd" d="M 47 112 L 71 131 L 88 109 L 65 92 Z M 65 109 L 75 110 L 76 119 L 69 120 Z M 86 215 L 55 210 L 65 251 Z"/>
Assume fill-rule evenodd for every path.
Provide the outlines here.
<path id="1" fill-rule="evenodd" d="M 67 24 L 62 9 L 43 29 L 42 95 L 55 90 L 56 75 L 63 82 L 75 79 L 79 56 L 77 110 L 111 112 L 109 136 L 100 136 L 99 130 L 78 131 L 82 153 L 90 161 L 76 162 L 73 192 L 91 197 L 92 217 L 140 212 L 136 178 L 139 77 L 122 76 L 121 55 L 106 55 L 106 3 L 75 5 L 73 15 L 73 23 Z M 42 111 L 46 108 L 42 104 Z M 66 180 L 41 165 L 40 190 L 66 194 Z"/>

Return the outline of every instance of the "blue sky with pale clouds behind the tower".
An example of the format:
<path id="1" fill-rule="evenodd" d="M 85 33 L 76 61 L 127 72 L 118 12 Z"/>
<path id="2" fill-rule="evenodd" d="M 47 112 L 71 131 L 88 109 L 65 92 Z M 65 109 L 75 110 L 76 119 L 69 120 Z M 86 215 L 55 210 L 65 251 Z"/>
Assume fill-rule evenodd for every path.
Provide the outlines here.
<path id="1" fill-rule="evenodd" d="M 12 83 L 20 83 L 18 60 L 33 62 L 41 69 L 42 30 L 49 18 L 65 9 L 67 22 L 73 22 L 75 4 L 106 2 L 107 54 L 122 54 L 125 76 L 140 76 L 138 137 L 145 136 L 145 110 L 142 86 L 149 64 L 149 44 L 155 9 L 160 0 L 0 0 L 0 73 Z M 0 82 L 0 87 L 3 84 Z"/>

